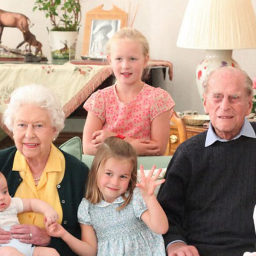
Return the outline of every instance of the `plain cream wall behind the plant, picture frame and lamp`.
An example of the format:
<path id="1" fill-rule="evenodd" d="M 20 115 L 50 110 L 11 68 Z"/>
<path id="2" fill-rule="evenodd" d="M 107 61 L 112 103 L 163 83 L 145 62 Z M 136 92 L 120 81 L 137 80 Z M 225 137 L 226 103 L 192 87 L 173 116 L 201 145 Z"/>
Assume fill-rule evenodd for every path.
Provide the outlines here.
<path id="1" fill-rule="evenodd" d="M 203 59 L 204 50 L 182 49 L 176 46 L 177 35 L 181 26 L 188 0 L 81 0 L 82 27 L 77 45 L 78 53 L 82 52 L 82 40 L 85 13 L 100 4 L 113 3 L 124 11 L 135 12 L 136 4 L 139 10 L 134 28 L 140 30 L 151 46 L 151 58 L 168 60 L 173 63 L 173 81 L 161 80 L 161 87 L 166 89 L 176 102 L 176 111 L 187 109 L 203 113 L 203 106 L 195 82 L 196 65 Z M 129 8 L 131 2 L 131 8 Z M 31 32 L 43 44 L 43 53 L 50 58 L 49 38 L 46 26 L 50 28 L 49 20 L 40 11 L 33 12 L 33 0 L 1 1 L 0 8 L 6 11 L 20 12 L 28 16 L 34 26 Z M 256 11 L 256 0 L 252 0 Z M 23 40 L 22 34 L 15 28 L 5 28 L 2 44 L 15 48 Z M 79 56 L 79 54 L 78 54 Z M 248 75 L 256 76 L 256 49 L 234 50 L 233 58 Z"/>

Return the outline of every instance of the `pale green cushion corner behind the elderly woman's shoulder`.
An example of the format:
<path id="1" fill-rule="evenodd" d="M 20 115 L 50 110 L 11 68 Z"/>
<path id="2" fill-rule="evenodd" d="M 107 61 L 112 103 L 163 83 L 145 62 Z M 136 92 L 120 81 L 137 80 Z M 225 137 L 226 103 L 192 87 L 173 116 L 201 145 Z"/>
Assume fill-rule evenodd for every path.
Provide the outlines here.
<path id="1" fill-rule="evenodd" d="M 59 147 L 61 150 L 72 154 L 76 158 L 78 158 L 80 161 L 82 161 L 82 141 L 79 137 L 73 137 L 66 141 L 65 143 L 61 144 Z"/>

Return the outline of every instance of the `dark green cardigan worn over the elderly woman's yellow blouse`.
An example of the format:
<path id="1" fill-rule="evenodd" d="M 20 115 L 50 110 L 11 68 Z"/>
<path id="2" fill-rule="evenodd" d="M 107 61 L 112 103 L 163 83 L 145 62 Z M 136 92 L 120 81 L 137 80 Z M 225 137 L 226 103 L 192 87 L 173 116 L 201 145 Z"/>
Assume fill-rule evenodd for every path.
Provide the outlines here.
<path id="1" fill-rule="evenodd" d="M 16 147 L 10 147 L 0 150 L 0 172 L 8 182 L 9 193 L 11 196 L 15 195 L 19 184 L 23 181 L 19 172 L 13 172 L 13 160 Z M 69 233 L 77 238 L 81 238 L 81 230 L 77 220 L 77 210 L 81 202 L 84 192 L 88 167 L 77 158 L 70 154 L 61 151 L 64 154 L 66 168 L 63 180 L 57 185 L 60 203 L 63 210 L 63 220 L 61 225 L 68 230 Z M 56 248 L 61 256 L 73 256 L 74 252 L 70 250 L 68 245 L 60 238 L 51 238 L 50 247 Z"/>

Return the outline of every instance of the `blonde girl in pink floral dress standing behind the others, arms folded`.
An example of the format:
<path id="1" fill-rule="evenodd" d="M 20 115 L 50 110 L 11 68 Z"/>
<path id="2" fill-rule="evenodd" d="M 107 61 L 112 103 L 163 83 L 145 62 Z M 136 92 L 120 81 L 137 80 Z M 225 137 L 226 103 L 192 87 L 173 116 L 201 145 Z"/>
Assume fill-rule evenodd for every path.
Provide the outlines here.
<path id="1" fill-rule="evenodd" d="M 83 152 L 95 154 L 109 136 L 122 136 L 138 155 L 163 155 L 174 102 L 168 92 L 141 79 L 149 60 L 147 39 L 138 30 L 117 31 L 107 45 L 116 83 L 98 90 L 85 102 Z"/>

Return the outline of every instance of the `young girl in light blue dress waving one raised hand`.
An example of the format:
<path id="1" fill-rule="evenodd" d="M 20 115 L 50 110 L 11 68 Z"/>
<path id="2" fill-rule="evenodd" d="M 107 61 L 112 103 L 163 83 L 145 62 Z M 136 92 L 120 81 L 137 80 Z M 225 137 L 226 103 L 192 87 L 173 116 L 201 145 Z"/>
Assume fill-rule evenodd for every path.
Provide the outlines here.
<path id="1" fill-rule="evenodd" d="M 61 237 L 78 255 L 155 255 L 165 256 L 161 234 L 168 220 L 154 196 L 155 188 L 165 180 L 146 177 L 140 166 L 137 181 L 137 156 L 123 139 L 105 139 L 94 157 L 85 198 L 78 208 L 81 240 L 61 225 L 47 227 L 49 235 Z"/>

